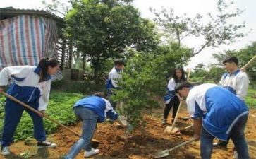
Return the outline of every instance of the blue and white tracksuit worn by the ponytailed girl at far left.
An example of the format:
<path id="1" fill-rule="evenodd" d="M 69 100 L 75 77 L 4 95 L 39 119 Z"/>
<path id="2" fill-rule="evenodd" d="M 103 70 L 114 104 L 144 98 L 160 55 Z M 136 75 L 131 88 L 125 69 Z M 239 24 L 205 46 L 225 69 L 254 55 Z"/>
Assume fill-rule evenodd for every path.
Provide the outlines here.
<path id="1" fill-rule="evenodd" d="M 36 66 L 10 66 L 0 72 L 0 86 L 8 85 L 8 81 L 13 78 L 13 83 L 8 88 L 8 94 L 14 98 L 25 102 L 36 110 L 46 110 L 49 101 L 51 87 L 51 76 L 39 82 L 41 69 Z M 17 102 L 7 99 L 5 105 L 4 130 L 2 136 L 2 146 L 10 146 L 13 141 L 13 134 L 23 111 L 26 110 L 34 123 L 34 136 L 37 141 L 45 141 L 46 135 L 42 117 L 35 112 L 31 112 Z"/>

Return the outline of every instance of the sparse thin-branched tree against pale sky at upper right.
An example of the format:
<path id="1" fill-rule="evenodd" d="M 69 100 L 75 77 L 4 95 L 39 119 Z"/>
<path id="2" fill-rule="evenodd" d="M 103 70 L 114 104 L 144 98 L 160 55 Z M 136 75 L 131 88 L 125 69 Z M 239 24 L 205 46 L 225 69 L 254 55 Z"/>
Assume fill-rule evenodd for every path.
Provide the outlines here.
<path id="1" fill-rule="evenodd" d="M 190 55 L 190 57 L 193 57 L 207 47 L 218 47 L 222 44 L 235 42 L 237 38 L 245 35 L 241 32 L 241 29 L 245 27 L 244 23 L 240 25 L 228 23 L 229 19 L 243 13 L 240 9 L 237 9 L 236 12 L 228 13 L 226 10 L 232 4 L 233 2 L 226 4 L 224 0 L 217 1 L 218 13 L 216 15 L 208 13 L 209 21 L 207 23 L 202 22 L 203 16 L 200 14 L 197 14 L 195 18 L 189 18 L 186 14 L 184 16 L 176 16 L 172 8 L 169 11 L 163 9 L 160 13 L 153 8 L 150 8 L 150 11 L 156 17 L 154 20 L 164 30 L 164 35 L 176 40 L 178 47 L 181 47 L 186 37 L 202 38 L 203 42 L 200 47 L 193 48 L 193 53 Z"/>

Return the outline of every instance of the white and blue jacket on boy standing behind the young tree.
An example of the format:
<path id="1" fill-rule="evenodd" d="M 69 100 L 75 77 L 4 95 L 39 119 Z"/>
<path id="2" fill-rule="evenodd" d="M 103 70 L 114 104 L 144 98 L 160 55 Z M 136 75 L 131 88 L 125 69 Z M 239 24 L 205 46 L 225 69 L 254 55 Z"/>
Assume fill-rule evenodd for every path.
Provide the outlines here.
<path id="1" fill-rule="evenodd" d="M 121 78 L 122 70 L 117 70 L 116 67 L 113 67 L 109 72 L 108 81 L 106 81 L 106 89 L 111 90 L 111 88 L 118 88 L 118 79 Z"/>

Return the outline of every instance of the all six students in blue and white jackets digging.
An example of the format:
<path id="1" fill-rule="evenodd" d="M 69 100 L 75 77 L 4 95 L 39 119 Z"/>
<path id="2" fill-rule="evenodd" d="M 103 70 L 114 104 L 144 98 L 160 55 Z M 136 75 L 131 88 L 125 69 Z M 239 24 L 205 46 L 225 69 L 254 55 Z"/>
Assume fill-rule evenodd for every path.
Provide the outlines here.
<path id="1" fill-rule="evenodd" d="M 215 137 L 221 140 L 217 144 L 218 146 L 226 146 L 228 139 L 231 138 L 235 144 L 238 158 L 249 158 L 244 136 L 248 120 L 248 107 L 245 105 L 244 97 L 248 91 L 249 80 L 246 73 L 238 69 L 236 57 L 228 58 L 223 63 L 228 73 L 222 76 L 219 82 L 221 86 L 209 83 L 193 86 L 188 83 L 182 68 L 175 69 L 173 78 L 168 83 L 168 93 L 164 98 L 166 107 L 162 124 L 166 124 L 171 107 L 173 107 L 172 117 L 174 118 L 180 100 L 186 98 L 188 112 L 194 121 L 194 137 L 196 140 L 201 140 L 202 158 L 211 158 L 214 146 L 212 141 Z M 97 123 L 104 122 L 106 117 L 118 122 L 123 128 L 126 127 L 126 124 L 118 119 L 118 114 L 112 107 L 112 105 L 115 107 L 116 103 L 106 100 L 109 96 L 114 95 L 111 90 L 119 89 L 117 81 L 118 78 L 121 78 L 123 61 L 116 60 L 114 64 L 106 84 L 107 97 L 104 93 L 95 93 L 75 102 L 73 111 L 83 121 L 83 132 L 64 158 L 75 158 L 82 149 L 85 150 L 85 157 L 99 153 L 99 150 L 92 148 L 90 143 Z M 55 59 L 42 59 L 38 66 L 10 66 L 0 72 L 0 93 L 13 78 L 13 83 L 8 88 L 8 94 L 42 113 L 38 116 L 18 103 L 6 100 L 1 140 L 2 155 L 11 153 L 9 146 L 13 142 L 13 134 L 24 110 L 32 118 L 34 136 L 38 141 L 37 146 L 56 148 L 56 143 L 51 143 L 46 139 L 42 117 L 49 100 L 51 75 L 58 69 L 59 62 Z"/>

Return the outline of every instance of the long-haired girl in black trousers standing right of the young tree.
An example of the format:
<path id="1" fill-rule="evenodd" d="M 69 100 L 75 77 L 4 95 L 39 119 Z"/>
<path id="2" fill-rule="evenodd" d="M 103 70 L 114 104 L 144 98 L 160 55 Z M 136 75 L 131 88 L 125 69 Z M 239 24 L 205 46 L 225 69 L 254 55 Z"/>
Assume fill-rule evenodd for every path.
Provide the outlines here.
<path id="1" fill-rule="evenodd" d="M 178 105 L 180 105 L 181 99 L 179 99 L 176 93 L 174 92 L 174 88 L 177 85 L 177 83 L 180 83 L 182 81 L 187 81 L 187 78 L 185 77 L 184 69 L 182 67 L 178 67 L 174 69 L 173 78 L 170 79 L 167 85 L 167 93 L 164 96 L 165 107 L 164 107 L 164 117 L 161 122 L 162 125 L 167 124 L 167 117 L 169 115 L 171 107 L 173 107 L 171 122 L 173 122 L 174 118 L 176 117 Z"/>

